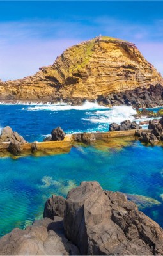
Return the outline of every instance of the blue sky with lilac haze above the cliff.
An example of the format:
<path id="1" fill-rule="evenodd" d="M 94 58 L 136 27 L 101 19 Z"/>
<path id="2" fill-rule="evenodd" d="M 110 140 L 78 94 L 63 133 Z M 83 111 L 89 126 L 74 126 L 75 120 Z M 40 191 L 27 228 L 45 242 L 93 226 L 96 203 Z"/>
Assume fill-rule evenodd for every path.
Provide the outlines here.
<path id="1" fill-rule="evenodd" d="M 99 34 L 134 42 L 163 74 L 163 1 L 0 1 L 0 79 L 35 74 Z"/>

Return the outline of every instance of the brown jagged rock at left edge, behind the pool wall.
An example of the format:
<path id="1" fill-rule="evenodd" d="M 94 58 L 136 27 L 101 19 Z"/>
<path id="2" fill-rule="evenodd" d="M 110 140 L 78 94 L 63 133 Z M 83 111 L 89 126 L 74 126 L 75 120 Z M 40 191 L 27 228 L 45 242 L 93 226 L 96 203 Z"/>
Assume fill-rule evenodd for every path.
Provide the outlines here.
<path id="1" fill-rule="evenodd" d="M 0 142 L 19 142 L 26 143 L 22 136 L 20 136 L 17 132 L 13 132 L 10 126 L 6 126 L 2 129 L 0 135 Z"/>

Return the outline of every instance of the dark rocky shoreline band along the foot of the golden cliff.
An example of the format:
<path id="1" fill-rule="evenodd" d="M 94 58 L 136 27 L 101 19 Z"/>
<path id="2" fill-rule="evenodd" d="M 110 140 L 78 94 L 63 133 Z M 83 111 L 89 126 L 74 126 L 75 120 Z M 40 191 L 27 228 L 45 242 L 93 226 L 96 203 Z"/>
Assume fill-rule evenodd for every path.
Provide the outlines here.
<path id="1" fill-rule="evenodd" d="M 88 97 L 67 97 L 63 99 L 62 97 L 54 99 L 49 97 L 49 99 L 29 99 L 29 100 L 17 100 L 17 99 L 3 99 L 1 98 L 1 104 L 26 104 L 26 105 L 52 105 L 52 104 L 70 104 L 72 106 L 81 106 L 84 102 L 97 102 L 102 106 L 108 106 L 109 108 L 113 106 L 132 106 L 133 108 L 155 108 L 157 106 L 163 106 L 163 86 L 161 84 L 150 85 L 148 88 L 136 88 L 134 90 L 125 90 L 120 92 L 112 92 L 107 95 L 100 95 L 95 99 L 89 99 Z M 146 111 L 146 113 L 149 113 Z M 160 115 L 159 115 L 160 116 Z M 149 117 L 152 117 L 150 115 Z M 154 116 L 155 117 L 155 116 Z"/>

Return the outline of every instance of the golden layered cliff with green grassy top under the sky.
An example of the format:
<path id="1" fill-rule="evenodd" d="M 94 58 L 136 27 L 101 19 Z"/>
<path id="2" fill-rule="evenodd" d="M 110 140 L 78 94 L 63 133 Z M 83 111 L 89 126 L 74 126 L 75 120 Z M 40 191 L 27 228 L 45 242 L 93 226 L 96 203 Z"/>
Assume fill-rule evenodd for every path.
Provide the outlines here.
<path id="1" fill-rule="evenodd" d="M 34 76 L 0 83 L 0 100 L 82 101 L 163 85 L 134 44 L 107 36 L 70 47 Z"/>

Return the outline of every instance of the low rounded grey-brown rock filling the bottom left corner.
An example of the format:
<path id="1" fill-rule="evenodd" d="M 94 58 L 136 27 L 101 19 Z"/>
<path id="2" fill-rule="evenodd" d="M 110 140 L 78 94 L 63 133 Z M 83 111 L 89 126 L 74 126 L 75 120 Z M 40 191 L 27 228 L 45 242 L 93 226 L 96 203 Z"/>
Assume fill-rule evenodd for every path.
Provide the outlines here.
<path id="1" fill-rule="evenodd" d="M 79 250 L 66 239 L 63 218 L 55 217 L 13 229 L 0 239 L 0 255 L 79 255 Z"/>

